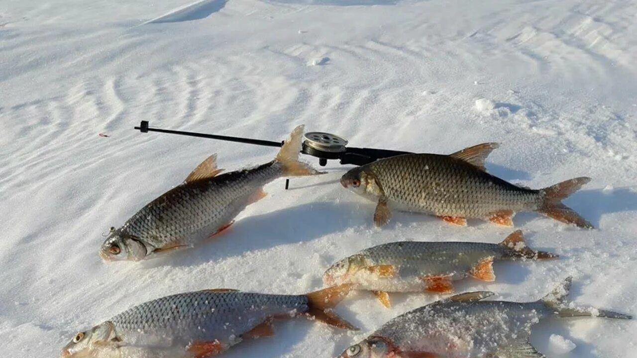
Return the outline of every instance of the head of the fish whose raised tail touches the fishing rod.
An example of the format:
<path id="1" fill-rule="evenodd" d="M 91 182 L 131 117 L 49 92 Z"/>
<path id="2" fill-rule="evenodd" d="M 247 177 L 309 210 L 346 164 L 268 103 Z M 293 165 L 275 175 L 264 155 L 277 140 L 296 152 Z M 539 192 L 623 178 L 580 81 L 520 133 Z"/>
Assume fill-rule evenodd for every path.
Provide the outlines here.
<path id="1" fill-rule="evenodd" d="M 110 234 L 99 248 L 99 255 L 104 262 L 140 261 L 146 257 L 147 250 L 138 237 L 111 227 Z"/>

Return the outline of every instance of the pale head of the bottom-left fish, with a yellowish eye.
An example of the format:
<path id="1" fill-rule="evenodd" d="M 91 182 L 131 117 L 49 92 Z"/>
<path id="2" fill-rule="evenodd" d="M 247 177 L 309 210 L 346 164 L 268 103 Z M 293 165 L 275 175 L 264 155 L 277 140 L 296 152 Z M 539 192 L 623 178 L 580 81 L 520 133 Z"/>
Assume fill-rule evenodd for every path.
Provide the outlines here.
<path id="1" fill-rule="evenodd" d="M 120 340 L 112 322 L 104 322 L 87 331 L 76 333 L 62 348 L 61 358 L 91 358 L 99 350 L 117 348 Z"/>

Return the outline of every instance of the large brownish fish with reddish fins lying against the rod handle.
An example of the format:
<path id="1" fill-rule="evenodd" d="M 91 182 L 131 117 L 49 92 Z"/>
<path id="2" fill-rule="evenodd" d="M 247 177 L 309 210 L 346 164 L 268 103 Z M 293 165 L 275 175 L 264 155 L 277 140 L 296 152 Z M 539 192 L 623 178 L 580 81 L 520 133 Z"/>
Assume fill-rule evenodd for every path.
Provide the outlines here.
<path id="1" fill-rule="evenodd" d="M 350 169 L 341 185 L 376 201 L 374 223 L 389 222 L 392 208 L 426 213 L 445 222 L 467 225 L 467 218 L 513 226 L 518 211 L 536 211 L 566 224 L 593 229 L 585 218 L 562 204 L 590 178 L 582 176 L 534 190 L 487 173 L 485 159 L 498 143 L 482 143 L 450 155 L 402 154 Z"/>

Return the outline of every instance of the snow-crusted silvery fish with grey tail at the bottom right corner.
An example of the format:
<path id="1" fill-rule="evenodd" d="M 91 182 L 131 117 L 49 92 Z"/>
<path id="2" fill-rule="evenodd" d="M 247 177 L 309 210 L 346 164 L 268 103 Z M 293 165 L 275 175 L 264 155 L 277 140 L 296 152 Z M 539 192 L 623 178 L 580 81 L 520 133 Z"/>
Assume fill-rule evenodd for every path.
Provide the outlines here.
<path id="1" fill-rule="evenodd" d="M 340 358 L 542 358 L 529 343 L 535 324 L 549 317 L 631 315 L 575 306 L 569 277 L 534 302 L 482 301 L 493 292 L 468 292 L 427 304 L 389 320 Z"/>

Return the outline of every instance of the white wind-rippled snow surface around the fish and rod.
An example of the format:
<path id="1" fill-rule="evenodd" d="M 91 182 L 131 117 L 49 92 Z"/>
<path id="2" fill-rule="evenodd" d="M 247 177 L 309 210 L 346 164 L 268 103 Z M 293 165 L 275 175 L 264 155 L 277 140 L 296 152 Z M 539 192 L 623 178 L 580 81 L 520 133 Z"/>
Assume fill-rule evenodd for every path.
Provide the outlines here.
<path id="1" fill-rule="evenodd" d="M 492 290 L 534 300 L 568 275 L 572 299 L 637 313 L 637 1 L 0 0 L 0 341 L 4 357 L 57 357 L 79 329 L 155 297 L 216 287 L 303 293 L 344 255 L 395 240 L 499 242 L 373 204 L 329 175 L 283 180 L 196 250 L 103 264 L 97 248 L 143 204 L 218 153 L 222 168 L 274 148 L 140 134 L 157 127 L 282 140 L 298 124 L 355 147 L 450 153 L 499 141 L 487 168 L 546 187 L 593 181 L 566 203 L 599 227 L 515 217 L 551 262 L 495 265 Z M 99 133 L 108 137 L 98 136 Z M 315 162 L 313 158 L 308 160 Z M 334 357 L 440 296 L 369 293 L 337 311 L 362 331 L 303 319 L 225 357 Z M 555 335 L 555 336 L 553 336 Z M 636 357 L 637 321 L 564 319 L 532 343 L 559 357 Z M 553 343 L 551 343 L 553 342 Z M 570 343 L 575 344 L 575 348 Z M 553 346 L 553 347 L 552 347 Z M 552 355 L 557 357 L 557 355 Z"/>

